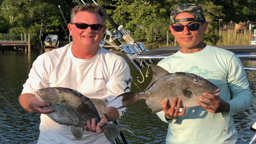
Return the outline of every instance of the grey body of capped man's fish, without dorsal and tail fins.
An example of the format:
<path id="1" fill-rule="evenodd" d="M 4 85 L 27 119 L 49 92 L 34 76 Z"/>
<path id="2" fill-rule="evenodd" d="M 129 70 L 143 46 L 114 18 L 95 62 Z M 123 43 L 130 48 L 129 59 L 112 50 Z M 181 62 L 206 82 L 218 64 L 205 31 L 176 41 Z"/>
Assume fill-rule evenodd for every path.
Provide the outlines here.
<path id="1" fill-rule="evenodd" d="M 171 102 L 177 97 L 182 99 L 182 108 L 191 108 L 199 106 L 196 100 L 201 100 L 199 96 L 204 92 L 213 94 L 217 89 L 218 87 L 200 76 L 178 72 L 160 77 L 138 98 L 162 104 L 164 98 Z"/>

